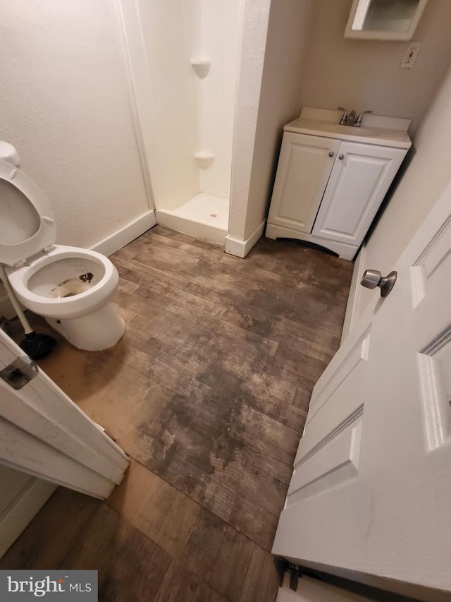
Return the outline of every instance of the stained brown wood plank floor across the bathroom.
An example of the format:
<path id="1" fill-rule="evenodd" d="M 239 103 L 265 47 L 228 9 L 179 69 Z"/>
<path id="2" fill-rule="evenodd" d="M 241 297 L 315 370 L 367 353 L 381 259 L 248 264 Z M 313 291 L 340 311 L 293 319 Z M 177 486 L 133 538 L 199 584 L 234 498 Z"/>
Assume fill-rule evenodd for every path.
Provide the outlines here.
<path id="1" fill-rule="evenodd" d="M 0 567 L 97 568 L 104 601 L 273 601 L 278 514 L 352 264 L 266 239 L 241 260 L 158 226 L 112 260 L 121 342 L 60 341 L 41 366 L 130 470 L 105 503 L 60 488 Z"/>

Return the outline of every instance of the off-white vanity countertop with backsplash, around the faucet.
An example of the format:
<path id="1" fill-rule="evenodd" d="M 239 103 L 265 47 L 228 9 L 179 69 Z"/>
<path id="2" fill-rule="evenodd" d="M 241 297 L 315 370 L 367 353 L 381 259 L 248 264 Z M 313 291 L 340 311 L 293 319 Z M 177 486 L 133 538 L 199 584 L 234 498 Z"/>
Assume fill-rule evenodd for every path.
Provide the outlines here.
<path id="1" fill-rule="evenodd" d="M 323 138 L 338 138 L 364 144 L 391 146 L 408 149 L 412 146 L 407 128 L 409 119 L 364 115 L 362 126 L 340 126 L 342 112 L 328 109 L 309 109 L 304 107 L 295 121 L 291 121 L 283 129 L 286 132 L 323 136 Z"/>

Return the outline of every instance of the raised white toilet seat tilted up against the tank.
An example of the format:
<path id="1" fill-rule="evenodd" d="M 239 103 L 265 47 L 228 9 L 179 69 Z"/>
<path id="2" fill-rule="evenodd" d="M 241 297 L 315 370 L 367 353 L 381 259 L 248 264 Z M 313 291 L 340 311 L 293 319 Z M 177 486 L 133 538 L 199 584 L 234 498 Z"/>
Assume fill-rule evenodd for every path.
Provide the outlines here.
<path id="1" fill-rule="evenodd" d="M 39 186 L 23 171 L 2 159 L 0 159 L 0 179 L 10 183 L 22 193 L 27 201 L 25 210 L 28 210 L 33 216 L 36 213 L 39 217 L 39 227 L 36 231 L 24 230 L 20 234 L 20 239 L 14 243 L 6 244 L 0 241 L 0 263 L 11 266 L 20 265 L 55 242 L 54 212 Z M 10 219 L 8 221 L 14 227 L 14 217 L 10 205 L 11 202 L 8 204 L 8 201 L 4 201 L 3 205 L 0 204 L 0 219 L 7 219 L 9 210 Z M 20 224 L 17 224 L 16 233 L 19 234 L 20 231 Z"/>

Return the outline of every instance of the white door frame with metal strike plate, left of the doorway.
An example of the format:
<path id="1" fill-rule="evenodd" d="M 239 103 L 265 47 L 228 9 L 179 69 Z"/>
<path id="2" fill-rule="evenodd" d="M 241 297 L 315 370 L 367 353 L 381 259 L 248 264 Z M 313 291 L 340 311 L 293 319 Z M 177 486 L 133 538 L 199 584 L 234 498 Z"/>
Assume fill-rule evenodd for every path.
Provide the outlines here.
<path id="1" fill-rule="evenodd" d="M 78 408 L 0 329 L 0 464 L 32 476 L 107 498 L 121 483 L 128 458 L 116 443 Z M 14 369 L 11 369 L 11 366 Z M 23 381 L 15 389 L 13 380 Z"/>

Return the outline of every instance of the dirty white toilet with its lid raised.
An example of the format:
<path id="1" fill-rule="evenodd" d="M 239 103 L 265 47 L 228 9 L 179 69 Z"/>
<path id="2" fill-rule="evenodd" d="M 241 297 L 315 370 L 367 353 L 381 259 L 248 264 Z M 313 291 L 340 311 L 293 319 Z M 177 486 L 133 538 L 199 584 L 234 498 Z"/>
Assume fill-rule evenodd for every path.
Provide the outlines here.
<path id="1" fill-rule="evenodd" d="M 125 330 L 111 303 L 118 270 L 101 253 L 55 244 L 49 200 L 19 162 L 0 142 L 0 263 L 14 293 L 78 349 L 112 347 Z"/>

